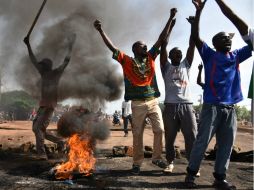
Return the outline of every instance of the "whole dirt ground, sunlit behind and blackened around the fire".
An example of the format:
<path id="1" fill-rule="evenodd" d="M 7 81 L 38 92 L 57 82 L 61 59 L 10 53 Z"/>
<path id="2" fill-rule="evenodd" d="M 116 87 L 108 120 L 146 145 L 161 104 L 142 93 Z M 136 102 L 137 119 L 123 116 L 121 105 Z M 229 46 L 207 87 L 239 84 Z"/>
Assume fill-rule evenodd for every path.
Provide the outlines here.
<path id="1" fill-rule="evenodd" d="M 135 176 L 130 173 L 131 157 L 113 157 L 113 146 L 132 145 L 131 131 L 128 137 L 123 137 L 122 126 L 112 126 L 110 137 L 106 141 L 97 142 L 96 170 L 92 176 L 77 174 L 72 181 L 55 180 L 49 171 L 64 161 L 64 155 L 52 154 L 48 161 L 35 161 L 28 153 L 17 153 L 10 149 L 29 141 L 34 143 L 31 126 L 30 121 L 0 124 L 0 189 L 185 189 L 183 181 L 187 161 L 184 158 L 176 159 L 171 175 L 164 174 L 151 163 L 150 158 L 145 158 L 140 175 Z M 54 131 L 55 128 L 56 125 L 51 124 L 48 129 Z M 214 141 L 208 149 L 213 148 Z M 151 128 L 147 127 L 144 145 L 152 146 L 152 142 L 153 134 Z M 181 133 L 175 145 L 184 149 Z M 235 145 L 241 148 L 241 152 L 252 151 L 253 129 L 239 127 Z M 197 179 L 198 189 L 213 189 L 213 164 L 213 161 L 208 160 L 202 162 L 201 177 Z M 231 162 L 227 179 L 237 189 L 253 189 L 253 162 Z"/>

